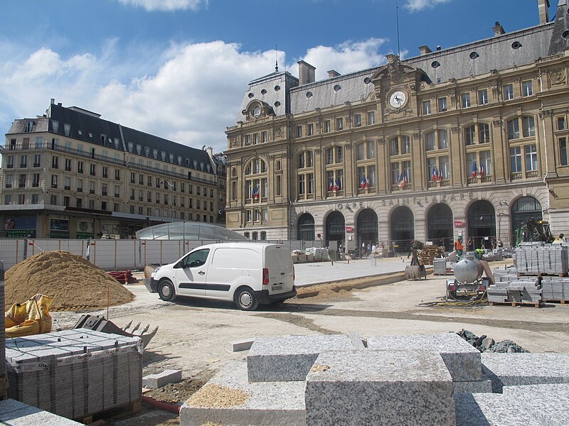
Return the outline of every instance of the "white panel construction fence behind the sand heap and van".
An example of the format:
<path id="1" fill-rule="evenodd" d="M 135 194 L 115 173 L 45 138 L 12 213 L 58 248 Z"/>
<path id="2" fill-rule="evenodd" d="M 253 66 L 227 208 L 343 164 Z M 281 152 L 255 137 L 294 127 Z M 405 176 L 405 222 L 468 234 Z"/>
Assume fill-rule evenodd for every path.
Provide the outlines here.
<path id="1" fill-rule="evenodd" d="M 0 261 L 6 271 L 16 263 L 44 251 L 63 250 L 86 258 L 105 271 L 143 270 L 147 265 L 172 263 L 185 253 L 213 240 L 129 240 L 129 239 L 0 239 Z M 259 241 L 261 242 L 261 241 Z M 312 241 L 262 241 L 289 249 L 312 246 Z"/>

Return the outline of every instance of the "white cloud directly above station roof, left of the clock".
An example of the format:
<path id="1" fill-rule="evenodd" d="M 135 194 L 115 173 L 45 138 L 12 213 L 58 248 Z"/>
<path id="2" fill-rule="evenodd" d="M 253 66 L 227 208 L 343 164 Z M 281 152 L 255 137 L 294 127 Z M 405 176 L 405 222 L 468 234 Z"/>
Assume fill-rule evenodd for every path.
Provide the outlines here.
<path id="1" fill-rule="evenodd" d="M 385 62 L 385 55 L 379 53 L 385 41 L 384 38 L 369 38 L 356 43 L 346 41 L 334 47 L 317 46 L 307 51 L 304 60 L 316 67 L 316 79 L 324 80 L 329 70 L 346 74 Z"/>

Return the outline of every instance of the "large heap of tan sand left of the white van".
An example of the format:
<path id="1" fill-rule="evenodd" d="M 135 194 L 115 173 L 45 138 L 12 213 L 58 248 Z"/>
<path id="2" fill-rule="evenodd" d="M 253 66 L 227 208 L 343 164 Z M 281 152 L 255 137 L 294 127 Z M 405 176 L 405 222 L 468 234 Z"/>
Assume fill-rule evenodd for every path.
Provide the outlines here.
<path id="1" fill-rule="evenodd" d="M 53 297 L 50 310 L 121 305 L 134 299 L 115 278 L 68 251 L 46 251 L 12 266 L 5 277 L 6 310 L 41 293 Z"/>

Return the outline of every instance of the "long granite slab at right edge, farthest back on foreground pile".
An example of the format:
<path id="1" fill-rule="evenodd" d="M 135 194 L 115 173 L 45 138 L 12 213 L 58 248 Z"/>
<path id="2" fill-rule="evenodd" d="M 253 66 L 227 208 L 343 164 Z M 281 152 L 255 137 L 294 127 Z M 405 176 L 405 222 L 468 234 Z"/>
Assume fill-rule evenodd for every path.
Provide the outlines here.
<path id="1" fill-rule="evenodd" d="M 482 369 L 492 391 L 504 386 L 569 383 L 569 354 L 482 354 Z"/>

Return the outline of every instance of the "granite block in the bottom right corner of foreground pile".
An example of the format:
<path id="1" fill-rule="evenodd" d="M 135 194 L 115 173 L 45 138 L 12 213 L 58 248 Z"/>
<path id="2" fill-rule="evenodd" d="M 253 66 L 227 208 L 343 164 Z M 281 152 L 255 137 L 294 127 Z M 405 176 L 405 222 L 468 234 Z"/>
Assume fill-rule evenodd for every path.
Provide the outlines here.
<path id="1" fill-rule="evenodd" d="M 541 425 L 569 425 L 569 384 L 504 386 L 504 395 L 519 401 Z"/>

